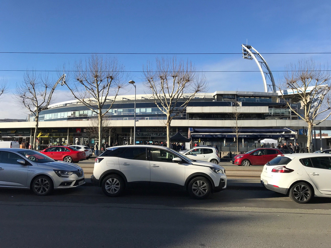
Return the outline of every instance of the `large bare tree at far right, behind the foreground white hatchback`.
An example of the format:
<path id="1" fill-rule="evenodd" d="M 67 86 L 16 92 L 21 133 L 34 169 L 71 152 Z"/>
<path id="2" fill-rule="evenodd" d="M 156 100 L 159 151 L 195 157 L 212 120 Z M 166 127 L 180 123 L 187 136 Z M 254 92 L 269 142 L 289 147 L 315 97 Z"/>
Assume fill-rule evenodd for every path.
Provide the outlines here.
<path id="1" fill-rule="evenodd" d="M 330 72 L 310 60 L 300 60 L 298 65 L 285 67 L 281 95 L 298 117 L 307 123 L 307 147 L 310 151 L 311 130 L 330 115 Z M 287 92 L 286 92 L 287 91 Z M 295 109 L 291 103 L 301 103 Z M 317 120 L 317 118 L 321 118 Z"/>

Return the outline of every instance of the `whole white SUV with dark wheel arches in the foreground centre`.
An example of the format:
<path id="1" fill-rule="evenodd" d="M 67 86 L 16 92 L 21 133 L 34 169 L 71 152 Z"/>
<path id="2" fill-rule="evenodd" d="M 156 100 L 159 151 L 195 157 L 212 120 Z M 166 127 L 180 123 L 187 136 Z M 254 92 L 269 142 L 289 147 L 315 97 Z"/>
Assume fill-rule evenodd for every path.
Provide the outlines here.
<path id="1" fill-rule="evenodd" d="M 117 146 L 95 159 L 93 184 L 107 196 L 119 196 L 129 186 L 171 185 L 196 199 L 226 188 L 225 170 L 217 164 L 191 160 L 162 146 Z"/>

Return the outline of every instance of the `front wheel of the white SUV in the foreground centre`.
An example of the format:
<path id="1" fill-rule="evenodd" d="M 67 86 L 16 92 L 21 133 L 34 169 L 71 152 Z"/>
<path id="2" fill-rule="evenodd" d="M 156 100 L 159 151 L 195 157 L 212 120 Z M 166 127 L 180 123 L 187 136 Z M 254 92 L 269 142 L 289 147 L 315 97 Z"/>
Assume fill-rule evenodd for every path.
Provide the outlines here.
<path id="1" fill-rule="evenodd" d="M 205 177 L 195 177 L 188 184 L 188 192 L 195 199 L 207 198 L 211 190 L 211 183 Z"/>

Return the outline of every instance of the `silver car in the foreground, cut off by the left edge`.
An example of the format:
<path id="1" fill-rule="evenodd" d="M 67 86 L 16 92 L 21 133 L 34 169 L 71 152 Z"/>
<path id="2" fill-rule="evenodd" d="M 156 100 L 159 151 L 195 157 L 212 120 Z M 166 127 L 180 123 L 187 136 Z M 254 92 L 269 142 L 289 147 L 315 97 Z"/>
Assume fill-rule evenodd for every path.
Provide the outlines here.
<path id="1" fill-rule="evenodd" d="M 84 184 L 79 166 L 56 161 L 39 152 L 18 148 L 0 149 L 0 187 L 31 189 L 44 196 L 54 189 Z"/>

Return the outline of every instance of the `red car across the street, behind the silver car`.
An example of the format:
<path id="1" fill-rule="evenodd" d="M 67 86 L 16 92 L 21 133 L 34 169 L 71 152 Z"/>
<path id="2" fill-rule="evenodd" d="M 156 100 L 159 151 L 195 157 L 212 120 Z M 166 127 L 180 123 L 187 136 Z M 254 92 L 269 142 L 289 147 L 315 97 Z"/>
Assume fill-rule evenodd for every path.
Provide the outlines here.
<path id="1" fill-rule="evenodd" d="M 54 160 L 63 160 L 69 163 L 78 163 L 81 160 L 86 159 L 86 155 L 84 151 L 78 151 L 72 147 L 64 147 L 64 146 L 56 146 L 56 147 L 49 147 L 41 153 L 53 158 Z"/>

